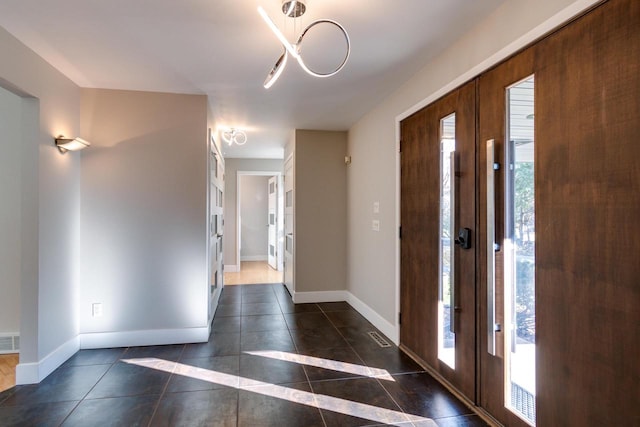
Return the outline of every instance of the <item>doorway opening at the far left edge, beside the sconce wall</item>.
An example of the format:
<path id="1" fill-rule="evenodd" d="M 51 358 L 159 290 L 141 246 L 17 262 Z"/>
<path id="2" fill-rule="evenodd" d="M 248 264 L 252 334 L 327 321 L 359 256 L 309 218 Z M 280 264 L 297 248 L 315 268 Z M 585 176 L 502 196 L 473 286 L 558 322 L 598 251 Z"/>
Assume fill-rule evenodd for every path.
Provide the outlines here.
<path id="1" fill-rule="evenodd" d="M 36 98 L 0 80 L 0 147 L 13 153 L 0 158 L 0 181 L 11 183 L 0 188 L 0 392 L 24 381 L 16 378 L 16 367 L 25 359 L 21 349 L 37 340 L 37 329 L 23 325 L 24 308 L 38 304 L 38 294 L 24 290 L 38 280 L 38 251 L 33 250 L 38 211 L 30 207 L 38 199 L 39 110 Z"/>

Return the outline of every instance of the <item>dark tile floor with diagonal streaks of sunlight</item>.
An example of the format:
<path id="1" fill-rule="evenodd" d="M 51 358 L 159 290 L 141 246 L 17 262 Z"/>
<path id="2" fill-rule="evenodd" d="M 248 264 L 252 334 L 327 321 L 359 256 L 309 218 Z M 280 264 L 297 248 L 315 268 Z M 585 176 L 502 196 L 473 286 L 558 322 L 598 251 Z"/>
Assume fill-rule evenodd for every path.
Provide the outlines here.
<path id="1" fill-rule="evenodd" d="M 0 426 L 484 426 L 346 303 L 228 286 L 203 344 L 82 350 L 0 394 Z"/>

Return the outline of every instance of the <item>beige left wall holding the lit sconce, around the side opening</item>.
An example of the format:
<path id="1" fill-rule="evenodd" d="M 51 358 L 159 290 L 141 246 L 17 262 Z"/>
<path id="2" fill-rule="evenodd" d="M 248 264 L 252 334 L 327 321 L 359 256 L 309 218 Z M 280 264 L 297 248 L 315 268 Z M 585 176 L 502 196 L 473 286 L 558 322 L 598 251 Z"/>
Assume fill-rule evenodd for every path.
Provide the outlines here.
<path id="1" fill-rule="evenodd" d="M 60 154 L 53 138 L 79 135 L 80 89 L 2 28 L 0 52 L 0 85 L 22 97 L 22 151 L 12 153 L 22 194 L 17 376 L 32 382 L 76 348 L 82 154 Z"/>

